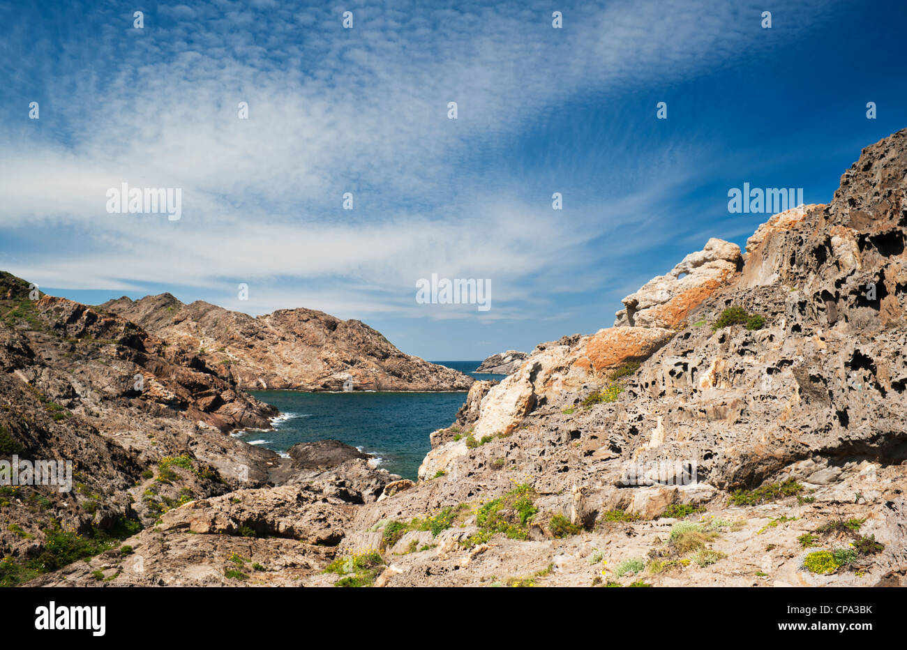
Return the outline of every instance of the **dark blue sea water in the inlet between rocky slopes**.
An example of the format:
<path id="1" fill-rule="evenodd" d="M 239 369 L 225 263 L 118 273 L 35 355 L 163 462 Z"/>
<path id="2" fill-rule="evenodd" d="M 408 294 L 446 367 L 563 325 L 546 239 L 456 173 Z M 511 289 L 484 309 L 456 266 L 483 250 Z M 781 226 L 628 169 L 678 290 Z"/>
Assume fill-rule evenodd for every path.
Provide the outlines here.
<path id="1" fill-rule="evenodd" d="M 503 374 L 473 374 L 481 361 L 435 361 L 476 379 L 503 379 Z M 274 451 L 297 442 L 332 438 L 374 454 L 379 467 L 415 480 L 428 435 L 448 426 L 466 393 L 297 393 L 249 391 L 280 410 L 274 431 L 243 432 L 244 441 Z"/>

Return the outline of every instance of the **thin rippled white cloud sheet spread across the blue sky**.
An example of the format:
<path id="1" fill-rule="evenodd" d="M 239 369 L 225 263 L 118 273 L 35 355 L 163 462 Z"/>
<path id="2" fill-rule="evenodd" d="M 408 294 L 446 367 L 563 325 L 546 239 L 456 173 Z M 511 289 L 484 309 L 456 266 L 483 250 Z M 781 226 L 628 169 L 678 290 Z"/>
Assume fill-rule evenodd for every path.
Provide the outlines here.
<path id="1" fill-rule="evenodd" d="M 42 120 L 64 113 L 52 123 L 67 135 L 26 124 L 5 137 L 0 230 L 32 246 L 0 266 L 63 288 L 216 293 L 246 281 L 255 306 L 230 306 L 338 315 L 424 315 L 417 278 L 491 277 L 483 318 L 519 318 L 596 286 L 590 266 L 602 258 L 668 238 L 657 206 L 707 146 L 681 142 L 643 170 L 609 170 L 624 187 L 616 199 L 570 196 L 563 213 L 526 199 L 539 172 L 517 178 L 496 160 L 541 114 L 590 93 L 668 85 L 768 47 L 751 24 L 758 11 L 730 3 L 577 8 L 563 30 L 547 5 L 354 7 L 353 30 L 336 6 L 218 5 L 164 5 L 144 34 L 111 25 L 65 44 L 110 67 L 67 79 L 45 69 Z M 156 24 L 165 19 L 169 32 Z M 459 120 L 446 119 L 448 101 Z M 104 192 L 122 182 L 181 188 L 182 220 L 107 214 Z M 341 209 L 345 191 L 353 211 Z"/>

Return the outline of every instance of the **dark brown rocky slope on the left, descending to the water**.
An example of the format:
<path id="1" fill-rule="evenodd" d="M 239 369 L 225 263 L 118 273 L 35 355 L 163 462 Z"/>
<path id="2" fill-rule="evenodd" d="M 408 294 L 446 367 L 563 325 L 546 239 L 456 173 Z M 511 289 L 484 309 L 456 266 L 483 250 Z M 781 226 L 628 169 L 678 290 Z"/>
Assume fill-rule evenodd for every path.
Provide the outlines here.
<path id="1" fill-rule="evenodd" d="M 0 459 L 69 461 L 73 475 L 69 491 L 24 485 L 0 497 L 0 557 L 44 555 L 52 520 L 83 535 L 150 524 L 168 503 L 268 479 L 277 454 L 225 432 L 266 428 L 276 409 L 172 364 L 138 325 L 30 293 L 0 273 Z"/>

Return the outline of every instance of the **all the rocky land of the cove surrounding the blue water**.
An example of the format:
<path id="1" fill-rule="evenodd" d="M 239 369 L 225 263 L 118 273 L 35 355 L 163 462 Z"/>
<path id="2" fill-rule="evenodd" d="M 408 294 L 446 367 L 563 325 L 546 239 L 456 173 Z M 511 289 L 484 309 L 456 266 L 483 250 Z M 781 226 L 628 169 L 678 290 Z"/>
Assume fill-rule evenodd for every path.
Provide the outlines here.
<path id="1" fill-rule="evenodd" d="M 76 467 L 69 493 L 0 488 L 0 582 L 902 585 L 905 228 L 907 130 L 829 203 L 745 250 L 708 239 L 613 325 L 538 344 L 500 382 L 320 312 L 32 301 L 5 274 L 0 457 Z M 418 480 L 336 441 L 281 461 L 229 435 L 277 415 L 246 392 L 261 383 L 349 377 L 468 389 Z"/>

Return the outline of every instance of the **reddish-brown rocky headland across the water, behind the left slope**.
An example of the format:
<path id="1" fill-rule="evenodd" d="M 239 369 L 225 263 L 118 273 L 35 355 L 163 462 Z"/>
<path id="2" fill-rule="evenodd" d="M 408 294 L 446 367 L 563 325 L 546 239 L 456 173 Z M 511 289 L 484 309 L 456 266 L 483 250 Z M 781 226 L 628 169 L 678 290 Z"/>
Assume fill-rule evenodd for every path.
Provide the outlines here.
<path id="1" fill-rule="evenodd" d="M 170 358 L 205 364 L 245 390 L 465 391 L 472 377 L 397 350 L 380 332 L 311 309 L 253 318 L 170 294 L 99 306 L 170 345 Z"/>

